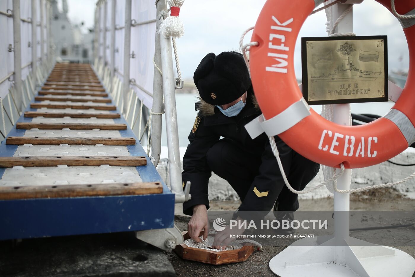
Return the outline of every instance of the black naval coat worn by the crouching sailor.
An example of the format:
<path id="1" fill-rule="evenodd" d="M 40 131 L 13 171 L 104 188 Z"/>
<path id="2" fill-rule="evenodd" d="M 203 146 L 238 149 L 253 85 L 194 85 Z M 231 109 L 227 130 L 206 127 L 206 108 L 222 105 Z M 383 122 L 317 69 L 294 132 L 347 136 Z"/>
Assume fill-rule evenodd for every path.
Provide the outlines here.
<path id="1" fill-rule="evenodd" d="M 247 161 L 250 161 L 247 166 L 256 167 L 257 170 L 253 181 L 249 181 L 250 188 L 247 189 L 246 195 L 239 195 L 243 200 L 238 213 L 257 211 L 254 214 L 250 212 L 249 217 L 253 217 L 251 219 L 264 217 L 273 208 L 278 195 L 285 187 L 285 183 L 272 153 L 268 136 L 261 134 L 252 139 L 244 127 L 261 114 L 252 87 L 248 90 L 245 107 L 237 116 L 225 116 L 217 107 L 207 104 L 203 100 L 197 102 L 195 108 L 199 112 L 188 137 L 190 144 L 183 157 L 183 184 L 186 184 L 187 181 L 191 182 L 191 199 L 183 203 L 183 213 L 192 215 L 193 206 L 198 204 L 204 204 L 207 209 L 209 208 L 208 183 L 212 168 L 207 162 L 207 152 L 219 141 L 227 140 L 238 145 L 242 149 L 243 155 L 247 157 Z M 286 175 L 289 176 L 294 159 L 298 161 L 297 164 L 300 164 L 300 166 L 296 166 L 298 172 L 292 174 L 291 178 L 288 177 L 288 180 L 291 185 L 296 181 L 300 182 L 301 184 L 297 185 L 296 189 L 303 189 L 315 177 L 320 165 L 300 156 L 278 136 L 275 136 L 275 139 Z M 220 155 L 217 156 L 218 162 L 220 162 Z M 302 168 L 302 164 L 304 164 L 304 168 Z M 240 172 L 241 168 L 230 166 L 225 170 Z M 308 173 L 305 177 L 303 176 L 304 172 Z M 229 181 L 229 183 L 231 182 Z M 295 185 L 293 186 L 295 187 Z M 297 195 L 294 196 L 297 201 Z M 296 209 L 298 207 L 295 207 Z M 248 220 L 247 213 L 239 216 Z"/>

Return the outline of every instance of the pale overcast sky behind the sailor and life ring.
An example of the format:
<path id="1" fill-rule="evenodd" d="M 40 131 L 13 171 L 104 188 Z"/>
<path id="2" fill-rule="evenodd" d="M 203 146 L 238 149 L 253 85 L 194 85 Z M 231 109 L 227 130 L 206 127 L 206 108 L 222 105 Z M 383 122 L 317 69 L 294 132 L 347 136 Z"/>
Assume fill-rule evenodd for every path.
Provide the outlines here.
<path id="1" fill-rule="evenodd" d="M 154 0 L 149 0 L 153 1 Z M 61 5 L 59 0 L 59 5 Z M 93 26 L 96 0 L 68 0 L 69 17 L 73 23 Z M 219 54 L 239 48 L 239 38 L 248 27 L 255 25 L 265 0 L 186 0 L 181 8 L 185 35 L 177 40 L 183 77 L 191 79 L 200 60 L 209 52 Z M 326 16 L 321 11 L 311 15 L 299 37 L 323 37 Z M 356 35 L 388 35 L 389 70 L 408 70 L 408 46 L 398 20 L 374 0 L 354 6 Z M 249 42 L 251 33 L 247 35 Z M 301 79 L 300 45 L 295 47 L 295 72 Z M 403 62 L 399 62 L 399 57 Z"/>

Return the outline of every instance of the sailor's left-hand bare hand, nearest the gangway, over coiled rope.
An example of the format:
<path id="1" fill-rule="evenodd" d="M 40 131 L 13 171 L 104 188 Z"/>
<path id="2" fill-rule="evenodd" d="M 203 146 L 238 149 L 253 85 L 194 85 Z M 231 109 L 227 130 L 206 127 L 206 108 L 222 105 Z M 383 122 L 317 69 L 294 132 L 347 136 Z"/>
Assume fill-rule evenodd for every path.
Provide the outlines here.
<path id="1" fill-rule="evenodd" d="M 196 242 L 202 242 L 200 240 L 200 231 L 204 230 L 203 239 L 206 240 L 209 233 L 209 219 L 207 218 L 207 210 L 205 205 L 195 205 L 193 207 L 193 215 L 187 224 L 187 232 L 190 237 Z"/>

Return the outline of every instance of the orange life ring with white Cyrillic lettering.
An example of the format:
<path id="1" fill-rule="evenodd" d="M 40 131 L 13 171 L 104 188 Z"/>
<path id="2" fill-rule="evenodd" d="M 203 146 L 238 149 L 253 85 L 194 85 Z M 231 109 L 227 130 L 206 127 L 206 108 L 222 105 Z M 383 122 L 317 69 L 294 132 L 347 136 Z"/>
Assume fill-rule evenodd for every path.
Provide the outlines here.
<path id="1" fill-rule="evenodd" d="M 376 1 L 391 10 L 390 0 Z M 294 47 L 305 19 L 322 2 L 267 0 L 262 8 L 251 39 L 259 45 L 251 47 L 249 55 L 252 84 L 266 120 L 303 99 L 295 78 Z M 415 0 L 396 3 L 401 15 L 414 8 Z M 415 141 L 415 19 L 400 22 L 410 49 L 410 67 L 405 87 L 386 116 L 361 126 L 343 126 L 311 109 L 310 115 L 278 136 L 306 158 L 332 167 L 372 166 L 408 148 Z"/>

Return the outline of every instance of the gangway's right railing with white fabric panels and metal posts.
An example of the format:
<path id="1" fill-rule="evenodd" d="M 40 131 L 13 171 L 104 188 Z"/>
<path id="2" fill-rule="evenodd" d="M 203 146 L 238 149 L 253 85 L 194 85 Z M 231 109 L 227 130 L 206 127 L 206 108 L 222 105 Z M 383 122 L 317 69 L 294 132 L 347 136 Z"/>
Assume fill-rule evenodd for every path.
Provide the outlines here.
<path id="1" fill-rule="evenodd" d="M 147 145 L 154 166 L 160 160 L 165 114 L 170 188 L 176 203 L 183 203 L 190 183 L 184 193 L 172 39 L 159 34 L 168 16 L 166 0 L 98 0 L 93 67 L 134 134 Z"/>

